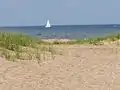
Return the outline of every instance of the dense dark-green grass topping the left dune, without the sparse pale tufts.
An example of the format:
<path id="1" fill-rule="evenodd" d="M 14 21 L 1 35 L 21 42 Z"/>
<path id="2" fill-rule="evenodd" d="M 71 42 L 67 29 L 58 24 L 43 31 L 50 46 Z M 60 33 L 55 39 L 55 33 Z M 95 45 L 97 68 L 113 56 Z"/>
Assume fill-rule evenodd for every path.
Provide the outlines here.
<path id="1" fill-rule="evenodd" d="M 0 32 L 0 46 L 8 50 L 18 51 L 20 46 L 33 46 L 35 42 L 33 38 L 27 35 Z"/>

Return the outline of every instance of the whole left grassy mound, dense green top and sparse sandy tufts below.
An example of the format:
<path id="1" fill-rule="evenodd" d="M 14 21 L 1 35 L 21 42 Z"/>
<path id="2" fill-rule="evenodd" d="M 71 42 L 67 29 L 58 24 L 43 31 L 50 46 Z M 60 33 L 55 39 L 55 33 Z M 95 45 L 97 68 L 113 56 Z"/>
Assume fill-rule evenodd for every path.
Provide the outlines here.
<path id="1" fill-rule="evenodd" d="M 7 60 L 36 60 L 52 57 L 53 48 L 47 42 L 22 33 L 0 32 L 0 54 Z"/>

